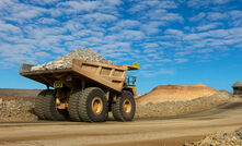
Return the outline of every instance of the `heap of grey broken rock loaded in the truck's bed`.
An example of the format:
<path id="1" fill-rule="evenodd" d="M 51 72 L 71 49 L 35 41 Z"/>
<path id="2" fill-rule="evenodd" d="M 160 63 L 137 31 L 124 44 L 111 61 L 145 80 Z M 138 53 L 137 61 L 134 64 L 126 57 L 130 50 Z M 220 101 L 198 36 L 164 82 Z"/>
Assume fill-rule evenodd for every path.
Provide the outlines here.
<path id="1" fill-rule="evenodd" d="M 105 59 L 97 52 L 92 51 L 92 49 L 77 49 L 66 54 L 65 57 L 57 58 L 56 61 L 50 61 L 42 65 L 32 66 L 31 71 L 69 69 L 71 68 L 72 59 L 82 59 L 85 61 L 113 64 L 112 61 Z"/>

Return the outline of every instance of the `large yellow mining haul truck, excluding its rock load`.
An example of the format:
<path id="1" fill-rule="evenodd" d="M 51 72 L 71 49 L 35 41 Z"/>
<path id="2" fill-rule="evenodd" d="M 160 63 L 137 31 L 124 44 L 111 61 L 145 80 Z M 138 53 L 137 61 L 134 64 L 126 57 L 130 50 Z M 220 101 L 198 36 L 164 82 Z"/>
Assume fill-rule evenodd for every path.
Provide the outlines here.
<path id="1" fill-rule="evenodd" d="M 45 84 L 35 99 L 35 114 L 41 120 L 104 122 L 112 111 L 117 121 L 131 121 L 136 112 L 136 76 L 127 71 L 134 65 L 114 65 L 73 59 L 71 66 L 31 71 L 22 64 L 20 74 Z"/>

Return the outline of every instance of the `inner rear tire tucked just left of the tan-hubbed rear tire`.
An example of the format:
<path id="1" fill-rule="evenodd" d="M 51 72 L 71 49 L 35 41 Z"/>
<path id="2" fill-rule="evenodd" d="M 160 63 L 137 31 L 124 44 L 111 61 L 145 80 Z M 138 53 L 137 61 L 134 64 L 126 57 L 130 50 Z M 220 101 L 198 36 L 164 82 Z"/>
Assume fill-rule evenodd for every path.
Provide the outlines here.
<path id="1" fill-rule="evenodd" d="M 79 117 L 79 100 L 81 98 L 82 92 L 74 90 L 71 93 L 69 101 L 68 101 L 68 112 L 71 121 L 80 122 L 82 121 Z"/>

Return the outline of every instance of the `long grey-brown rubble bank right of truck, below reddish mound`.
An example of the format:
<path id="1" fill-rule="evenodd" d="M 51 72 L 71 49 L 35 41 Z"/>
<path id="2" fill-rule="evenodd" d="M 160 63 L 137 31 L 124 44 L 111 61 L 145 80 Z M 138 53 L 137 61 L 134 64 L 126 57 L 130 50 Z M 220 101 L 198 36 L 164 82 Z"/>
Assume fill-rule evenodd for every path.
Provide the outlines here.
<path id="1" fill-rule="evenodd" d="M 232 99 L 231 94 L 221 90 L 218 94 L 192 100 L 137 105 L 136 119 L 185 115 L 218 107 Z"/>

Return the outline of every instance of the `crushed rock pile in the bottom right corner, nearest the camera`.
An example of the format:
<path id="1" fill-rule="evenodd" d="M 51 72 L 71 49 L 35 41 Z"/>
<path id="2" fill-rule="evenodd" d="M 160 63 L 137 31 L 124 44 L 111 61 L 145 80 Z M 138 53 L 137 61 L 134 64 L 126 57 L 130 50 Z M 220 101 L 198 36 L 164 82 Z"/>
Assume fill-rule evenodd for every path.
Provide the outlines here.
<path id="1" fill-rule="evenodd" d="M 216 132 L 199 142 L 184 144 L 184 146 L 242 146 L 242 127 L 234 132 Z"/>

